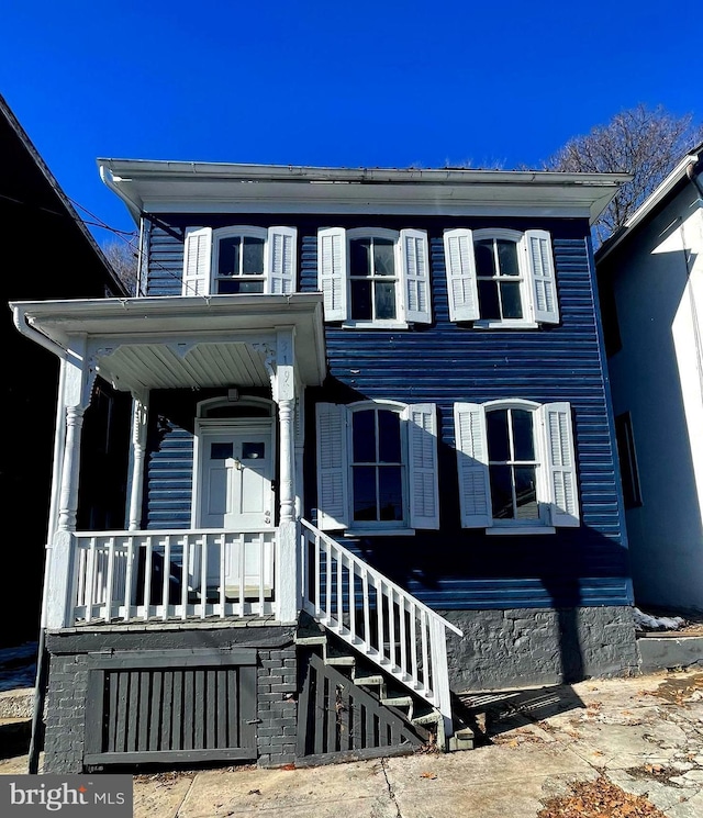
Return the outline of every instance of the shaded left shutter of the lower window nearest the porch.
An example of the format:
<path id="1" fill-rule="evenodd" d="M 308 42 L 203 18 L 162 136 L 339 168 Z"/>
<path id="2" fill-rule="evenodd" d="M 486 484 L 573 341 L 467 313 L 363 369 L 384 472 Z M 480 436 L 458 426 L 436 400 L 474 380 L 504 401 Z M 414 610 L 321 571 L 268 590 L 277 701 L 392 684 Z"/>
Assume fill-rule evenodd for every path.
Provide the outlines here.
<path id="1" fill-rule="evenodd" d="M 323 531 L 347 528 L 347 408 L 319 403 L 317 412 L 317 526 Z"/>

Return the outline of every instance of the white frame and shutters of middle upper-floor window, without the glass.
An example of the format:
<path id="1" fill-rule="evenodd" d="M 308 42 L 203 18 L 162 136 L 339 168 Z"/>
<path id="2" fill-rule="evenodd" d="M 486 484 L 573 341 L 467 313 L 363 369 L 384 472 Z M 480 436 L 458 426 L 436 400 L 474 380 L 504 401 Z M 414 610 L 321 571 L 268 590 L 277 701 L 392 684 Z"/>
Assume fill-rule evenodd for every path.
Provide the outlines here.
<path id="1" fill-rule="evenodd" d="M 403 242 L 405 238 L 421 238 L 422 254 L 424 255 L 424 277 L 420 277 L 420 287 L 425 288 L 426 310 L 417 310 L 412 320 L 412 312 L 408 303 L 408 290 L 411 276 L 404 256 Z M 335 239 L 342 243 L 339 257 L 332 262 L 323 259 L 323 240 Z M 384 238 L 393 242 L 393 262 L 395 266 L 395 318 L 360 320 L 350 317 L 352 310 L 352 280 L 350 280 L 350 253 L 349 243 L 359 238 Z M 342 327 L 350 329 L 408 329 L 414 323 L 432 322 L 432 290 L 429 281 L 429 243 L 426 231 L 405 228 L 401 231 L 387 227 L 327 227 L 317 231 L 317 264 L 319 264 L 319 289 L 325 294 L 325 321 L 341 322 Z M 324 276 L 322 267 L 324 265 Z M 339 265 L 341 269 L 335 269 Z M 339 281 L 339 290 L 333 295 L 335 277 L 343 278 Z"/>

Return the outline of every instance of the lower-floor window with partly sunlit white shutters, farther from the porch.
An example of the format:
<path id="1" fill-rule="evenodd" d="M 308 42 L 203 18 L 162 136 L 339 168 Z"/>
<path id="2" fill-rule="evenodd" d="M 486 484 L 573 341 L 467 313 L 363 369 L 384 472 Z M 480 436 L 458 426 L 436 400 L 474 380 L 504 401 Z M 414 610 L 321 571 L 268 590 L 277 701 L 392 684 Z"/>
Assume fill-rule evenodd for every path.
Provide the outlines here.
<path id="1" fill-rule="evenodd" d="M 579 525 L 568 403 L 456 403 L 454 419 L 465 528 L 539 534 Z"/>

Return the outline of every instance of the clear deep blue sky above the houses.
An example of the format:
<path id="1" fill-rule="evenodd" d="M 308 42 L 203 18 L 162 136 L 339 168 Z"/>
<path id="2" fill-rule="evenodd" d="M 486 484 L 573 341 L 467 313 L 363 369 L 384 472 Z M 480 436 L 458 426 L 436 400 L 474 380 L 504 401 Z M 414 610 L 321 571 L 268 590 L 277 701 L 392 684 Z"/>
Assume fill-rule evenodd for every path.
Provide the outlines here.
<path id="1" fill-rule="evenodd" d="M 700 0 L 5 0 L 0 93 L 71 200 L 131 229 L 98 157 L 510 169 L 638 103 L 701 122 L 700 12 Z"/>

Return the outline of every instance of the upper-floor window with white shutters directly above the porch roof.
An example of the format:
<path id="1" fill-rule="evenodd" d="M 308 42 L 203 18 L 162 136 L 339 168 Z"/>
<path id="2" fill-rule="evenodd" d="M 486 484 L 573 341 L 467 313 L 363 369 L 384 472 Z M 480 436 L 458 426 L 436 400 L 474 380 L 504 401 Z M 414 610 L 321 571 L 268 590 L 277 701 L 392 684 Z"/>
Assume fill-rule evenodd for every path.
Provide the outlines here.
<path id="1" fill-rule="evenodd" d="M 189 227 L 183 295 L 295 291 L 294 227 Z"/>

